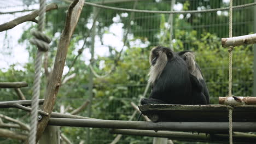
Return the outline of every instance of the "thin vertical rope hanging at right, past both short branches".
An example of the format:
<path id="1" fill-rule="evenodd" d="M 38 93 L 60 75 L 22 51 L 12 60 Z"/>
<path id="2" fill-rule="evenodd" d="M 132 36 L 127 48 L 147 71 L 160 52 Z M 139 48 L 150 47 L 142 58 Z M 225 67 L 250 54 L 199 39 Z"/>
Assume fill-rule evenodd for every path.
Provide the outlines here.
<path id="1" fill-rule="evenodd" d="M 232 0 L 229 1 L 229 37 L 232 37 Z M 229 47 L 229 95 L 232 97 L 232 50 L 233 46 Z M 229 110 L 229 143 L 232 144 L 232 110 L 231 106 L 228 106 Z"/>

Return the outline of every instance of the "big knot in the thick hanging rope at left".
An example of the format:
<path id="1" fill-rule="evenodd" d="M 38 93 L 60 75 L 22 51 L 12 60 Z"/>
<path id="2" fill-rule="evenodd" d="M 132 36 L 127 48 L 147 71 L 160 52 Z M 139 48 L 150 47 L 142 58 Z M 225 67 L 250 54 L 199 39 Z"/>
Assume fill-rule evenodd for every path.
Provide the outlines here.
<path id="1" fill-rule="evenodd" d="M 47 35 L 34 29 L 31 30 L 31 34 L 36 37 L 30 39 L 31 44 L 36 45 L 40 51 L 45 52 L 49 50 L 51 39 Z"/>

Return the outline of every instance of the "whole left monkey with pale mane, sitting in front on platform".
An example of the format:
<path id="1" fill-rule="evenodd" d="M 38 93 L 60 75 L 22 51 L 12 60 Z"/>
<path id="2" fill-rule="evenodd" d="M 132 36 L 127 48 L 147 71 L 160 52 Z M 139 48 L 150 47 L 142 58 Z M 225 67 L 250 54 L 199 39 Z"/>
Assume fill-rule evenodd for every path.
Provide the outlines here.
<path id="1" fill-rule="evenodd" d="M 187 63 L 167 47 L 155 47 L 149 58 L 152 92 L 141 104 L 192 104 Z"/>

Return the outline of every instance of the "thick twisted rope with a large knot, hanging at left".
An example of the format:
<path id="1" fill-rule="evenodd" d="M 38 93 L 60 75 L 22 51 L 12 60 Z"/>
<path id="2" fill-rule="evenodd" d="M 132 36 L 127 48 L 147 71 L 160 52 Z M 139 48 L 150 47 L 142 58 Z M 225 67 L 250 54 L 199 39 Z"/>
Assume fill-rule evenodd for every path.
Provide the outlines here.
<path id="1" fill-rule="evenodd" d="M 31 117 L 30 117 L 30 133 L 28 137 L 28 143 L 34 144 L 36 143 L 36 133 L 37 133 L 37 115 L 38 115 L 38 102 L 40 95 L 40 70 L 42 67 L 42 57 L 43 52 L 48 51 L 50 38 L 42 33 L 44 28 L 44 13 L 45 13 L 45 0 L 40 0 L 40 9 L 39 9 L 39 23 L 38 23 L 38 31 L 32 30 L 31 33 L 35 38 L 30 40 L 31 44 L 37 45 L 38 51 L 35 62 L 35 76 L 33 83 L 33 95 L 32 95 L 32 103 L 31 103 Z"/>

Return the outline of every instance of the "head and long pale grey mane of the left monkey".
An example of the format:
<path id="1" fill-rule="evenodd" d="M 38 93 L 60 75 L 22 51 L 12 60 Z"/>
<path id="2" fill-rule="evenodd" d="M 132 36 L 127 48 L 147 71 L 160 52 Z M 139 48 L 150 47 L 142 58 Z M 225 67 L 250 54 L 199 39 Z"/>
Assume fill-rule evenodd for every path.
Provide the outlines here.
<path id="1" fill-rule="evenodd" d="M 165 66 L 169 59 L 174 57 L 174 53 L 171 49 L 167 47 L 156 46 L 154 47 L 149 56 L 149 63 L 151 65 L 149 71 L 149 82 L 154 84 L 155 80 L 157 80 L 162 71 L 165 69 Z"/>

